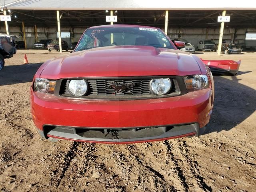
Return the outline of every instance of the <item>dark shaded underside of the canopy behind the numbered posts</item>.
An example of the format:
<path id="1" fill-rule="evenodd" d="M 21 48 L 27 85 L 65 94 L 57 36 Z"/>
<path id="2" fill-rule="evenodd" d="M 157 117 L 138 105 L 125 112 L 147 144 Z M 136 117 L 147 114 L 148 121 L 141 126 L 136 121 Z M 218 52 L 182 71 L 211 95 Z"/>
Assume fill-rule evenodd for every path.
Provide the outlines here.
<path id="1" fill-rule="evenodd" d="M 90 27 L 108 24 L 104 10 L 61 10 L 60 20 L 62 27 Z M 206 27 L 219 28 L 218 16 L 220 10 L 172 10 L 169 11 L 168 25 L 170 27 Z M 12 21 L 9 26 L 56 26 L 57 16 L 54 10 L 11 10 Z M 114 15 L 118 16 L 115 24 L 137 24 L 155 27 L 164 27 L 164 10 L 118 10 Z M 256 12 L 254 10 L 229 10 L 226 15 L 230 16 L 230 22 L 225 26 L 242 28 L 256 26 Z M 16 16 L 16 17 L 15 17 Z"/>

